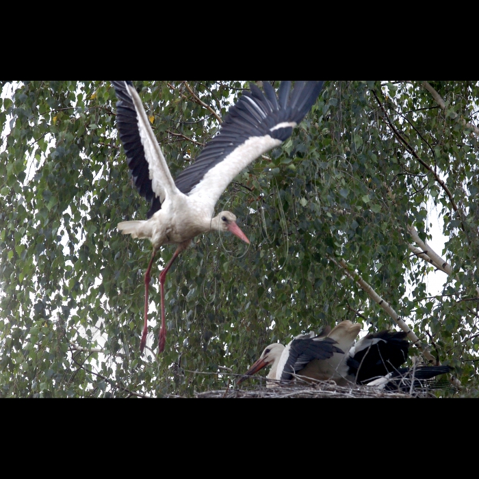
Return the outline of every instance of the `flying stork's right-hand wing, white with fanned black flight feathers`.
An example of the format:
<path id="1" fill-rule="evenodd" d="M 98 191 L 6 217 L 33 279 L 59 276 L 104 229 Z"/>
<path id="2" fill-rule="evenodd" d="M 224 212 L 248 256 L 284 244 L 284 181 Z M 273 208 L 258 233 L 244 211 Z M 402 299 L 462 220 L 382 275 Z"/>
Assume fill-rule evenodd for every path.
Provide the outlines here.
<path id="1" fill-rule="evenodd" d="M 179 174 L 178 189 L 196 196 L 212 212 L 236 175 L 263 153 L 289 138 L 305 117 L 324 81 L 282 81 L 279 96 L 267 81 L 264 93 L 255 84 L 244 90 L 226 116 L 220 133 L 207 142 L 196 161 Z"/>

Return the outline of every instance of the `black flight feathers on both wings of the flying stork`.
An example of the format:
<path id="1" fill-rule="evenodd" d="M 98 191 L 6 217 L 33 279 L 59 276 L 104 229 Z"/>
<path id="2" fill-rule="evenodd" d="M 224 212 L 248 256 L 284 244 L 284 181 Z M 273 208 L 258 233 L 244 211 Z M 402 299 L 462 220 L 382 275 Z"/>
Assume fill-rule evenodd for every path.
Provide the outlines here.
<path id="1" fill-rule="evenodd" d="M 133 86 L 131 81 L 112 81 L 118 103 L 116 104 L 118 134 L 127 155 L 128 166 L 135 186 L 146 200 L 151 202 L 148 218 L 161 207 L 155 195 L 149 177 L 148 161 L 138 131 L 138 116 L 133 100 L 125 85 Z M 292 127 L 270 131 L 282 122 L 298 124 L 309 112 L 322 89 L 323 81 L 296 81 L 290 96 L 291 81 L 282 81 L 279 98 L 267 81 L 263 82 L 264 93 L 255 85 L 245 90 L 237 103 L 229 109 L 220 133 L 207 142 L 196 161 L 179 174 L 174 183 L 184 194 L 190 194 L 205 174 L 242 145 L 248 138 L 270 135 L 284 141 L 292 133 Z M 253 103 L 254 104 L 253 104 Z"/>

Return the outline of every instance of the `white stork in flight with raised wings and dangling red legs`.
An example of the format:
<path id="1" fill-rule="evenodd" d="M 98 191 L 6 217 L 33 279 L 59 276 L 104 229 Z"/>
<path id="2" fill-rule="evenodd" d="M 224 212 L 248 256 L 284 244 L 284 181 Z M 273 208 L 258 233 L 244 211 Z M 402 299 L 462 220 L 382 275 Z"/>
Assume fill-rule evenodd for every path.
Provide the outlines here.
<path id="1" fill-rule="evenodd" d="M 151 202 L 148 220 L 125 221 L 118 230 L 153 244 L 144 276 L 144 328 L 140 350 L 144 350 L 148 332 L 148 285 L 153 260 L 164 244 L 177 244 L 172 259 L 159 275 L 161 289 L 161 329 L 158 352 L 164 350 L 166 324 L 164 283 L 166 273 L 177 256 L 200 233 L 230 231 L 244 242 L 248 238 L 236 224 L 236 216 L 221 211 L 213 217 L 222 192 L 248 164 L 289 138 L 294 127 L 314 105 L 324 81 L 282 81 L 276 97 L 274 89 L 263 82 L 264 93 L 254 84 L 244 90 L 229 109 L 220 133 L 207 142 L 196 161 L 173 180 L 161 153 L 142 101 L 131 81 L 112 81 L 118 103 L 118 133 L 127 155 L 128 166 L 138 191 Z M 292 90 L 292 91 L 291 91 Z"/>

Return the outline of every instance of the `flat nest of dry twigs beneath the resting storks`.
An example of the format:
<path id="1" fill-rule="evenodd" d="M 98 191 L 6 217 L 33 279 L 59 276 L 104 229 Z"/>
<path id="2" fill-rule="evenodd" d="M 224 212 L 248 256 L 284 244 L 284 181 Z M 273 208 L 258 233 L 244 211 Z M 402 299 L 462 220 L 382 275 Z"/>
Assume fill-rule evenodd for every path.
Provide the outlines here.
<path id="1" fill-rule="evenodd" d="M 334 381 L 313 383 L 277 381 L 274 387 L 261 384 L 257 387 L 224 389 L 195 393 L 196 398 L 436 398 L 432 389 L 411 389 L 410 391 L 380 391 L 370 386 L 338 386 Z"/>

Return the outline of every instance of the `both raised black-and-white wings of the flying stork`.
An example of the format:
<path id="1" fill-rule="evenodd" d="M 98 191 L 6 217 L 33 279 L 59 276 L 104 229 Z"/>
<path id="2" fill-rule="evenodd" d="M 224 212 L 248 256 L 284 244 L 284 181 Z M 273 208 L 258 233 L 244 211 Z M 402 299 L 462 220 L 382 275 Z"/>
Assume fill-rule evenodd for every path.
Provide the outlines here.
<path id="1" fill-rule="evenodd" d="M 235 176 L 263 153 L 289 138 L 321 92 L 324 81 L 282 81 L 276 97 L 263 82 L 264 93 L 252 84 L 244 90 L 226 116 L 220 133 L 207 142 L 196 161 L 173 182 L 148 122 L 140 96 L 131 81 L 112 81 L 117 103 L 120 139 L 136 187 L 151 201 L 148 218 L 161 207 L 164 198 L 182 192 L 213 213 L 218 198 Z"/>

